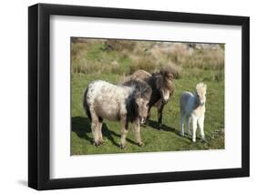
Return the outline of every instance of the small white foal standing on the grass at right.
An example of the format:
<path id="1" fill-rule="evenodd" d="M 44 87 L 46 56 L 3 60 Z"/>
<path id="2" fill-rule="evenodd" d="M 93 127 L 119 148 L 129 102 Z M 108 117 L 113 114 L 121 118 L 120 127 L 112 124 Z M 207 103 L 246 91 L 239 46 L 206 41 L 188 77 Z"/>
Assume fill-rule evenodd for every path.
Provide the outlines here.
<path id="1" fill-rule="evenodd" d="M 179 99 L 180 107 L 180 135 L 184 136 L 184 119 L 186 118 L 186 131 L 189 135 L 191 132 L 189 130 L 190 119 L 192 121 L 192 140 L 196 142 L 196 132 L 199 124 L 200 135 L 203 140 L 205 140 L 204 135 L 204 113 L 205 113 L 205 102 L 206 102 L 206 89 L 207 86 L 203 83 L 199 83 L 196 87 L 194 94 L 190 92 L 184 92 Z"/>

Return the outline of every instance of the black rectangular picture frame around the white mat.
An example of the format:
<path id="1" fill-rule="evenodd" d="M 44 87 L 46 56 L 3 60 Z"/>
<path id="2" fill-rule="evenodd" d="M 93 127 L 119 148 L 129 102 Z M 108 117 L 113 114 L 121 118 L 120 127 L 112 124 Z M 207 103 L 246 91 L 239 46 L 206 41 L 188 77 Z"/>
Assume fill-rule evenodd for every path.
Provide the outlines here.
<path id="1" fill-rule="evenodd" d="M 49 18 L 50 15 L 241 26 L 241 168 L 205 169 L 72 179 L 49 178 Z M 28 7 L 28 186 L 68 189 L 180 180 L 250 176 L 250 18 L 78 5 L 37 4 Z"/>

